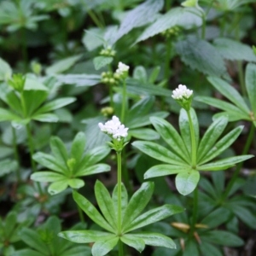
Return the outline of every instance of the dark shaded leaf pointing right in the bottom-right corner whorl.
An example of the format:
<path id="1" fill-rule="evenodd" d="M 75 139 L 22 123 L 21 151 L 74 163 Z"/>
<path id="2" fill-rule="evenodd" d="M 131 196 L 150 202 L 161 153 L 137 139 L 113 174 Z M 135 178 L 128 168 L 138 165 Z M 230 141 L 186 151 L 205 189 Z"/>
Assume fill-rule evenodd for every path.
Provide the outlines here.
<path id="1" fill-rule="evenodd" d="M 227 247 L 241 247 L 244 242 L 240 237 L 223 230 L 211 230 L 204 234 L 204 240 Z"/>

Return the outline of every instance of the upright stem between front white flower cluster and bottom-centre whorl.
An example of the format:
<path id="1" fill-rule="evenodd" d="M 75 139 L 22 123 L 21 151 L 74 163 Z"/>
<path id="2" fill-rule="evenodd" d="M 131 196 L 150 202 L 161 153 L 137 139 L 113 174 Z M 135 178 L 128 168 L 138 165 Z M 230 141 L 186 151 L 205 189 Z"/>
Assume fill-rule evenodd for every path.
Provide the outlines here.
<path id="1" fill-rule="evenodd" d="M 121 236 L 122 232 L 122 157 L 121 152 L 117 152 L 118 157 L 118 235 Z"/>

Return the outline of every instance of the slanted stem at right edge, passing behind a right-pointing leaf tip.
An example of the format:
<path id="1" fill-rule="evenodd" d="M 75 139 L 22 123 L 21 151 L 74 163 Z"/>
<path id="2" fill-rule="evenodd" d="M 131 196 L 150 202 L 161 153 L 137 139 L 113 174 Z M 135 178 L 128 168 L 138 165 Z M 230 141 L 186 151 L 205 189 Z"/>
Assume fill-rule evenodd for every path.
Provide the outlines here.
<path id="1" fill-rule="evenodd" d="M 253 135 L 254 135 L 254 131 L 255 131 L 255 126 L 253 125 L 253 123 L 251 124 L 251 128 L 249 131 L 249 135 L 247 137 L 247 142 L 242 150 L 241 154 L 247 154 L 251 144 L 253 143 Z M 224 191 L 224 195 L 222 197 L 222 201 L 225 201 L 227 199 L 227 197 L 230 194 L 230 190 L 233 188 L 234 183 L 236 183 L 236 179 L 240 173 L 241 170 L 241 166 L 242 166 L 242 162 L 240 162 L 237 166 L 236 166 L 236 171 L 234 172 L 233 176 L 230 179 L 230 182 L 227 185 L 227 189 Z"/>

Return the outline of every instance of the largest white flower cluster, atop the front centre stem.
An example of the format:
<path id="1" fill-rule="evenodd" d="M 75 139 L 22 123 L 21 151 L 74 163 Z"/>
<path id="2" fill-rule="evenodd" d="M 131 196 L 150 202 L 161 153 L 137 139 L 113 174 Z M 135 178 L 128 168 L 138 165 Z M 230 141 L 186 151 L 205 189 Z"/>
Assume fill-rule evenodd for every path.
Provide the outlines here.
<path id="1" fill-rule="evenodd" d="M 114 139 L 117 139 L 118 141 L 121 140 L 121 137 L 128 136 L 127 131 L 129 128 L 125 128 L 125 125 L 122 125 L 119 121 L 119 118 L 115 115 L 113 116 L 112 120 L 106 122 L 105 125 L 99 123 L 99 127 L 101 131 L 107 133 L 108 135 L 112 136 Z"/>

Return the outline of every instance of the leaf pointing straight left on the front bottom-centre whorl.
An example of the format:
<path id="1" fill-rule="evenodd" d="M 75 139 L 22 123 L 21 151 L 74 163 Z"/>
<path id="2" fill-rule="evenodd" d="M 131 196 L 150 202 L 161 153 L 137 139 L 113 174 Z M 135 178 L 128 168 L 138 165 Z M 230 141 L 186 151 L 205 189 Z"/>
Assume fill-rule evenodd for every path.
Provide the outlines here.
<path id="1" fill-rule="evenodd" d="M 61 236 L 68 241 L 89 243 L 95 241 L 105 241 L 109 236 L 113 236 L 113 234 L 97 230 L 70 230 L 62 231 L 58 234 L 58 236 Z"/>

